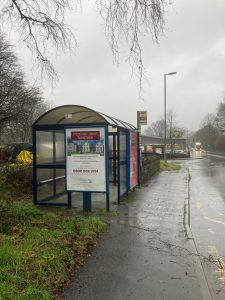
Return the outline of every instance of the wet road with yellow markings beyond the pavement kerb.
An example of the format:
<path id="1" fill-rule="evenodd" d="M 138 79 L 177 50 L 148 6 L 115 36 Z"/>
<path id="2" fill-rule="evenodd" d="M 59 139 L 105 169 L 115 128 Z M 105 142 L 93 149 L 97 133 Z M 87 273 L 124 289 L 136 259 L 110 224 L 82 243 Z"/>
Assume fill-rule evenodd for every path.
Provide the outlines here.
<path id="1" fill-rule="evenodd" d="M 191 231 L 213 299 L 225 299 L 225 157 L 187 162 Z"/>

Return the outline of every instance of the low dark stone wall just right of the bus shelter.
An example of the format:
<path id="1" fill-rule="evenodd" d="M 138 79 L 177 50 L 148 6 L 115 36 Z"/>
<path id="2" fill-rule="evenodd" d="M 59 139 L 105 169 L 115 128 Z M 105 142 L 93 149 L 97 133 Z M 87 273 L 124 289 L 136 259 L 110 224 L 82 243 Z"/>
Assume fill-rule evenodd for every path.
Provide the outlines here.
<path id="1" fill-rule="evenodd" d="M 146 155 L 143 153 L 140 181 L 144 183 L 148 181 L 151 176 L 159 171 L 160 157 L 157 155 Z"/>

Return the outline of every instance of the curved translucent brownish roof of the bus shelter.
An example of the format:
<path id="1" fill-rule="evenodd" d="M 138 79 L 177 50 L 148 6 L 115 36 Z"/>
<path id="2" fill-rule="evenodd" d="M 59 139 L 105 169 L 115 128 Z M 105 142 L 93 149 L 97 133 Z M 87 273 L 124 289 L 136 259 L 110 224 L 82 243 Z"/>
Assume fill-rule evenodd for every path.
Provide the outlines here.
<path id="1" fill-rule="evenodd" d="M 95 124 L 103 123 L 113 127 L 123 127 L 127 129 L 136 128 L 127 122 L 94 111 L 90 108 L 80 105 L 63 105 L 55 107 L 42 116 L 33 124 L 35 125 L 71 125 L 71 124 Z"/>

